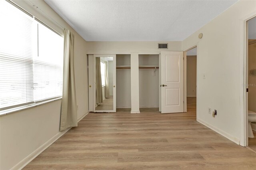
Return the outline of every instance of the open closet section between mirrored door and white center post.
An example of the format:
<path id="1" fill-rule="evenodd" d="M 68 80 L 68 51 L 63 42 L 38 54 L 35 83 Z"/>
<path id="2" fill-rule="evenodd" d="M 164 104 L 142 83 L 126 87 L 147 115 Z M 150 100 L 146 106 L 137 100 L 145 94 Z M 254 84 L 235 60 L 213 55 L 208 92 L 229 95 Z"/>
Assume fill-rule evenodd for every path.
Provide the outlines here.
<path id="1" fill-rule="evenodd" d="M 131 108 L 131 55 L 116 55 L 116 108 Z"/>

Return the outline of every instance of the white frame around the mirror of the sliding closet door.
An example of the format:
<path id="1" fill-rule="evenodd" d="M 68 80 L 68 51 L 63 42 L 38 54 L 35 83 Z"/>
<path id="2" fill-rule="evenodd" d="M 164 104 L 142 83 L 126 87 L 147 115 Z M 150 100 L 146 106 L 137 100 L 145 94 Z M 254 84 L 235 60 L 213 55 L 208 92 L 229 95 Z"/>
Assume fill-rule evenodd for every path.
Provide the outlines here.
<path id="1" fill-rule="evenodd" d="M 94 113 L 110 113 L 116 112 L 116 89 L 113 90 L 113 110 L 97 110 L 96 111 L 96 57 L 113 57 L 113 85 L 116 86 L 116 54 L 94 54 L 93 55 L 93 112 Z M 115 78 L 114 78 L 115 77 Z M 115 87 L 114 87 L 115 88 Z"/>

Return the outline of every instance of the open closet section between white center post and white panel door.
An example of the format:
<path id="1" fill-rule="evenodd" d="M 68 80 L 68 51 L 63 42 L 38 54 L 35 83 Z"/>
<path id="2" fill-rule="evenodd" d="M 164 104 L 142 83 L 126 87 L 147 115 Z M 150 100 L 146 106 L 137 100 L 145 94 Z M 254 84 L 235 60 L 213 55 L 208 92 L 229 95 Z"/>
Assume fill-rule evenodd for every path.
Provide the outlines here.
<path id="1" fill-rule="evenodd" d="M 159 87 L 159 55 L 139 54 L 140 113 L 159 112 Z"/>

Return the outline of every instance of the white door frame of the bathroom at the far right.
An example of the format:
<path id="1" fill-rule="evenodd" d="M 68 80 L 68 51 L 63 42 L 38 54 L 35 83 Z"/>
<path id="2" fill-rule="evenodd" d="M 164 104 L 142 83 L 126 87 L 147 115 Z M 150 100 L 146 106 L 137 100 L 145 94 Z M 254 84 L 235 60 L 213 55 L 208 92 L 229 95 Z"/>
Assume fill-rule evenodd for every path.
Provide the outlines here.
<path id="1" fill-rule="evenodd" d="M 248 146 L 248 92 L 246 92 L 246 86 L 248 85 L 248 20 L 256 17 L 256 11 L 245 16 L 240 20 L 241 28 L 241 39 L 242 42 L 240 46 L 241 57 L 240 57 L 240 105 L 241 105 L 241 134 L 240 134 L 240 145 Z"/>

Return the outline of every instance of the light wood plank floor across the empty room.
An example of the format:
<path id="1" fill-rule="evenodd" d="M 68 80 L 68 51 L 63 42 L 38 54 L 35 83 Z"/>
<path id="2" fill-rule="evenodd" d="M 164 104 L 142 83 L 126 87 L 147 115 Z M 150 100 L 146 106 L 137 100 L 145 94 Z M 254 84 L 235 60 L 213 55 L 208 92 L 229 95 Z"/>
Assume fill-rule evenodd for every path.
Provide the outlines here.
<path id="1" fill-rule="evenodd" d="M 196 122 L 195 103 L 188 113 L 89 113 L 24 169 L 256 169 L 255 152 Z"/>

